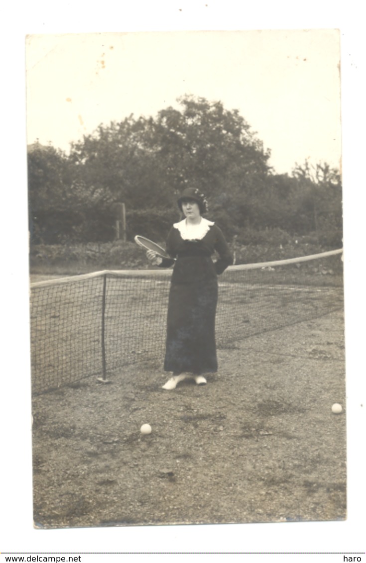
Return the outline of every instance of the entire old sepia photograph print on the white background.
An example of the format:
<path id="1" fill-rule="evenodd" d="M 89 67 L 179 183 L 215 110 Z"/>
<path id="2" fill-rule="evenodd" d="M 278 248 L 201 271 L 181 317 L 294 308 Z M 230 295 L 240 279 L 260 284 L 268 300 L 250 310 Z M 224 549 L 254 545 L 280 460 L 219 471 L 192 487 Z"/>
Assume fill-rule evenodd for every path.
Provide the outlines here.
<path id="1" fill-rule="evenodd" d="M 340 59 L 27 36 L 34 528 L 346 519 Z"/>

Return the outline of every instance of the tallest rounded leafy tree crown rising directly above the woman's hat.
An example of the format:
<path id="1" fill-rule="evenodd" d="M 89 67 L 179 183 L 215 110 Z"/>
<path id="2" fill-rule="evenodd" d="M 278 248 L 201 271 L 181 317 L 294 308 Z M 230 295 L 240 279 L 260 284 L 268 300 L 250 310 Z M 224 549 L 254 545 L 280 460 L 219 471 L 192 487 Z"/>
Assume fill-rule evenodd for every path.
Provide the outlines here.
<path id="1" fill-rule="evenodd" d="M 170 107 L 158 113 L 150 139 L 176 192 L 188 184 L 215 201 L 245 190 L 253 175 L 267 174 L 270 153 L 239 111 L 193 96 L 179 104 L 180 111 Z"/>

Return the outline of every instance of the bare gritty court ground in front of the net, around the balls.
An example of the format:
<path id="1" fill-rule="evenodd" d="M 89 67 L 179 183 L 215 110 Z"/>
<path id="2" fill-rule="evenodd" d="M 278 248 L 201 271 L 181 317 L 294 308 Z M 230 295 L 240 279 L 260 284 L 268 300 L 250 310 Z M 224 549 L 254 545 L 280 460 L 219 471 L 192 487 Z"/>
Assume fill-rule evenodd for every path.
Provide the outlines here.
<path id="1" fill-rule="evenodd" d="M 164 391 L 160 363 L 145 362 L 35 397 L 34 525 L 345 519 L 342 312 L 218 360 L 206 386 Z"/>

